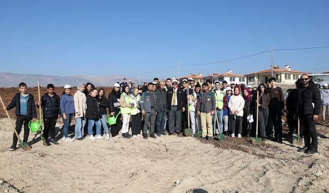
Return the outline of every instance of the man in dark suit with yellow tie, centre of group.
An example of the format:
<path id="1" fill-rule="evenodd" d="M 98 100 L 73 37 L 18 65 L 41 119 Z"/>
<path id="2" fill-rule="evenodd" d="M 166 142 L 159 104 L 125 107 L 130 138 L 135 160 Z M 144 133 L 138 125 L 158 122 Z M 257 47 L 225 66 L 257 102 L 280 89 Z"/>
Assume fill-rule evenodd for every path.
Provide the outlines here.
<path id="1" fill-rule="evenodd" d="M 181 112 L 185 111 L 185 94 L 178 88 L 178 81 L 173 80 L 172 87 L 167 91 L 167 107 L 169 120 L 169 135 L 174 132 L 181 135 Z"/>

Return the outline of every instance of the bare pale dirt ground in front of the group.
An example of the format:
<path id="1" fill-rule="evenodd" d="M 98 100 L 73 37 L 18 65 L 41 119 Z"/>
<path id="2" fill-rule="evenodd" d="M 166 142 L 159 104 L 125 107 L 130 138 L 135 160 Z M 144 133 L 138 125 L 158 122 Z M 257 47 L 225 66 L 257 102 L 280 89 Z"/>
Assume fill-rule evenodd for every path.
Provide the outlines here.
<path id="1" fill-rule="evenodd" d="M 59 145 L 45 147 L 31 133 L 31 151 L 8 151 L 13 130 L 0 112 L 0 192 L 329 192 L 328 125 L 317 125 L 314 155 L 297 152 L 290 141 L 252 145 L 237 137 L 65 143 L 61 120 Z"/>

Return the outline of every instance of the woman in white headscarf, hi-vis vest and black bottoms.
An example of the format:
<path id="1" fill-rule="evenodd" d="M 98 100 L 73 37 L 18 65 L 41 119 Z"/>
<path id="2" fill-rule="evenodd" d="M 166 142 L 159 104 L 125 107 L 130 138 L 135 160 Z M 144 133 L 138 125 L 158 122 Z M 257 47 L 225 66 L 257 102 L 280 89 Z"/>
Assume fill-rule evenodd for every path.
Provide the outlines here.
<path id="1" fill-rule="evenodd" d="M 134 106 L 131 109 L 132 135 L 133 137 L 137 137 L 137 136 L 139 137 L 142 125 L 141 125 L 141 113 L 139 107 L 141 96 L 138 94 L 138 89 L 133 89 L 133 93 L 130 95 L 130 98 L 131 98 L 131 103 L 134 104 Z"/>

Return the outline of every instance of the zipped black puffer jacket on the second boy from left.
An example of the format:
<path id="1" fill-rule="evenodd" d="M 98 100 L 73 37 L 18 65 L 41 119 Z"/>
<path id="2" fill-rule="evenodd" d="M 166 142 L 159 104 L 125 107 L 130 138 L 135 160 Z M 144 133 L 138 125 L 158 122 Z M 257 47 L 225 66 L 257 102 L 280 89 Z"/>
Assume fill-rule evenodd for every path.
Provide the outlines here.
<path id="1" fill-rule="evenodd" d="M 43 107 L 43 116 L 44 117 L 57 117 L 61 114 L 60 110 L 60 97 L 53 93 L 53 96 L 49 96 L 48 93 L 45 93 L 41 97 L 41 108 Z"/>

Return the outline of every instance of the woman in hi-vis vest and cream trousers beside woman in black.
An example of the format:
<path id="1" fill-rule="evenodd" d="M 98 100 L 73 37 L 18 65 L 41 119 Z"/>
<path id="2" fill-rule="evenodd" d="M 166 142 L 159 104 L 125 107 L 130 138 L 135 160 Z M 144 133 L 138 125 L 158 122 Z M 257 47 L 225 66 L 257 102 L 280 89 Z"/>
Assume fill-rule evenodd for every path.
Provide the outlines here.
<path id="1" fill-rule="evenodd" d="M 131 115 L 131 100 L 129 97 L 129 86 L 123 86 L 122 87 L 122 94 L 120 96 L 120 108 L 121 108 L 121 114 L 122 114 L 122 128 L 121 133 L 124 138 L 130 138 L 131 135 L 129 132 L 129 120 Z"/>

